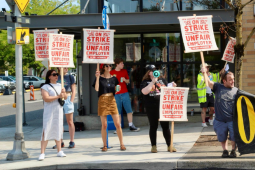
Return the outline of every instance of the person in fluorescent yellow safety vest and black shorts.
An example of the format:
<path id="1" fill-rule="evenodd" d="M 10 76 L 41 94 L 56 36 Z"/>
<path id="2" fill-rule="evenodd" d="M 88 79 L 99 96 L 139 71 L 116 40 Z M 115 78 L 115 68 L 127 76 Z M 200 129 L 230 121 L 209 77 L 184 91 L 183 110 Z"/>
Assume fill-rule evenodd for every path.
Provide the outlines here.
<path id="1" fill-rule="evenodd" d="M 200 65 L 200 69 L 202 69 L 203 65 Z M 211 73 L 209 72 L 209 69 L 211 65 L 205 63 L 205 72 L 209 79 L 215 83 L 220 83 L 220 74 L 224 70 L 221 70 L 219 73 Z M 207 108 L 210 108 L 209 111 L 209 124 L 213 125 L 213 114 L 214 114 L 214 94 L 210 87 L 206 87 L 205 81 L 204 81 L 204 75 L 202 73 L 199 73 L 197 75 L 197 95 L 198 95 L 198 101 L 200 103 L 200 108 L 202 108 L 201 111 L 201 118 L 202 118 L 202 127 L 207 127 L 205 123 L 205 116 Z"/>

